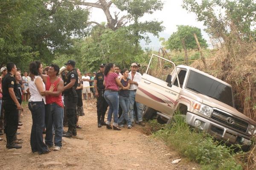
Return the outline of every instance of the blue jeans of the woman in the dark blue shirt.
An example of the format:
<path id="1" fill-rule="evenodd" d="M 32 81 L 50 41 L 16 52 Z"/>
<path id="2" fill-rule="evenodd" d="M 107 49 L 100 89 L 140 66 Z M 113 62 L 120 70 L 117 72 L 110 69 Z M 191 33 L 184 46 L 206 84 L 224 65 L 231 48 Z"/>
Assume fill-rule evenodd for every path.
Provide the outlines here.
<path id="1" fill-rule="evenodd" d="M 127 125 L 131 125 L 131 120 L 128 114 L 130 109 L 129 97 L 119 96 L 119 105 L 121 106 L 123 113 L 118 119 L 118 124 L 122 124 L 123 120 L 125 119 L 127 122 Z"/>

